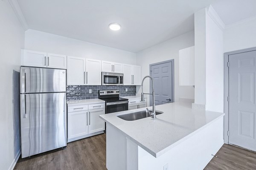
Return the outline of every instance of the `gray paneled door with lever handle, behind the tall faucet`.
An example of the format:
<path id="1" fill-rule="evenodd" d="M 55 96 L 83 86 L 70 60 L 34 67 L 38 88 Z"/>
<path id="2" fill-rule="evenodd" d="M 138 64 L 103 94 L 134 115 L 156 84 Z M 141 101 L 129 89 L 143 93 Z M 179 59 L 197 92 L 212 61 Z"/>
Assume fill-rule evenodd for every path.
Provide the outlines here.
<path id="1" fill-rule="evenodd" d="M 172 99 L 172 62 L 151 65 L 154 79 L 155 105 L 173 102 Z"/>

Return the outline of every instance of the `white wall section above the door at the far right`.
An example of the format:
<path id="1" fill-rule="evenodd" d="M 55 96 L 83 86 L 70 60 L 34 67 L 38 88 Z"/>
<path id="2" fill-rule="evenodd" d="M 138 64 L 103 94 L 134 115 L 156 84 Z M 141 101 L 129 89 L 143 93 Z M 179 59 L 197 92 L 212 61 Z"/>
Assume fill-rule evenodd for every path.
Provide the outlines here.
<path id="1" fill-rule="evenodd" d="M 224 52 L 256 47 L 256 17 L 228 25 L 224 30 Z"/>

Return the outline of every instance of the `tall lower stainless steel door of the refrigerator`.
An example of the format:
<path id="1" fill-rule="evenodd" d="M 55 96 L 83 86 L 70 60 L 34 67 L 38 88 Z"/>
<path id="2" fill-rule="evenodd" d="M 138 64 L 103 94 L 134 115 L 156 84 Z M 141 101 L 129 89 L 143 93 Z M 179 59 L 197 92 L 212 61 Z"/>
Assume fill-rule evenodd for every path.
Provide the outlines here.
<path id="1" fill-rule="evenodd" d="M 22 158 L 67 146 L 66 93 L 20 94 Z"/>

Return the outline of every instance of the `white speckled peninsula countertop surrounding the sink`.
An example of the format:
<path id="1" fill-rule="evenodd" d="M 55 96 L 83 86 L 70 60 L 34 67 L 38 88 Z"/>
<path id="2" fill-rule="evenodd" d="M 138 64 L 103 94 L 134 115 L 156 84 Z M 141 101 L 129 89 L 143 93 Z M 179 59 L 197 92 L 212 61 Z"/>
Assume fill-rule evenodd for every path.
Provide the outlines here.
<path id="1" fill-rule="evenodd" d="M 157 115 L 157 119 L 148 117 L 125 121 L 117 117 L 142 110 L 145 108 L 100 117 L 156 158 L 224 116 L 224 113 L 192 109 L 191 103 L 188 102 L 174 102 L 157 105 L 156 110 L 164 112 Z"/>

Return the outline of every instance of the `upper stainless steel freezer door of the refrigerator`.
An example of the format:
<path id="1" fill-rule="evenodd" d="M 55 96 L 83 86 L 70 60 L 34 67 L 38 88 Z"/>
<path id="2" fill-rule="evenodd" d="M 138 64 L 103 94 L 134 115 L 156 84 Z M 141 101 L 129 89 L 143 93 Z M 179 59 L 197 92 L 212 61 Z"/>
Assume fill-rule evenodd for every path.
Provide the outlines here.
<path id="1" fill-rule="evenodd" d="M 20 93 L 66 91 L 66 70 L 20 67 Z"/>

